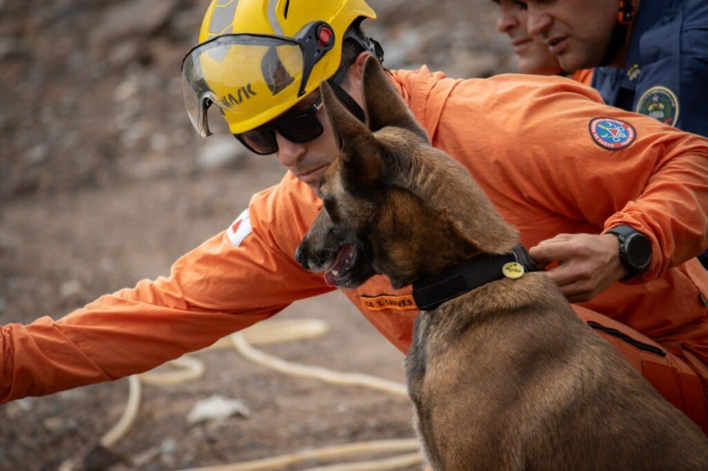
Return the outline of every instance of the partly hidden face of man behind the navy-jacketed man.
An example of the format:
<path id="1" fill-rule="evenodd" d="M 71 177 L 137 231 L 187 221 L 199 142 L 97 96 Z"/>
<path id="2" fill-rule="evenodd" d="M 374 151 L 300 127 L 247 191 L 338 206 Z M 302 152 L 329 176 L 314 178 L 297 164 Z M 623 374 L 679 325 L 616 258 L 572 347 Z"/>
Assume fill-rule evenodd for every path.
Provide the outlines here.
<path id="1" fill-rule="evenodd" d="M 519 57 L 519 69 L 524 74 L 558 74 L 561 67 L 554 54 L 539 36 L 530 36 L 527 31 L 526 4 L 519 0 L 493 0 L 499 5 L 496 27 L 506 33 L 514 52 Z"/>

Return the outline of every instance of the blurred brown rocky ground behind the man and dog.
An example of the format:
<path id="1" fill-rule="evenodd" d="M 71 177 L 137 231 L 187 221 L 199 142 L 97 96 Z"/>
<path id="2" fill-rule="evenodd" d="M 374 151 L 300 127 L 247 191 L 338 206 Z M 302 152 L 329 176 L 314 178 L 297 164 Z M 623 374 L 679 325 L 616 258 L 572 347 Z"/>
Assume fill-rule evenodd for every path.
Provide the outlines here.
<path id="1" fill-rule="evenodd" d="M 389 69 L 515 71 L 491 0 L 370 4 L 379 18 L 364 27 L 382 43 Z M 103 293 L 169 274 L 251 194 L 282 178 L 274 158 L 242 149 L 218 116 L 208 139 L 188 121 L 180 65 L 207 5 L 0 0 L 0 325 L 58 319 Z M 270 353 L 403 380 L 403 356 L 340 293 L 280 316 L 325 319 L 330 332 Z M 131 469 L 413 435 L 405 400 L 283 377 L 236 352 L 198 355 L 207 364 L 201 380 L 144 388 L 137 423 L 115 446 L 134 460 Z M 195 402 L 215 394 L 242 400 L 251 414 L 188 424 Z M 0 470 L 56 469 L 113 426 L 126 397 L 119 380 L 1 405 Z"/>

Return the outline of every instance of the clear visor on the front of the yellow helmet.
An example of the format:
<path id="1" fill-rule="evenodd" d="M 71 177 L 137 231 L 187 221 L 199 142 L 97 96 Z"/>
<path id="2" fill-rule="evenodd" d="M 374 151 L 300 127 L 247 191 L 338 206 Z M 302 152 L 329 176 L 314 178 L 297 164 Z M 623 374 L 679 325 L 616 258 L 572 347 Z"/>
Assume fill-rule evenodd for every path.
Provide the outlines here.
<path id="1" fill-rule="evenodd" d="M 182 63 L 190 121 L 208 136 L 212 103 L 245 127 L 263 110 L 287 110 L 297 103 L 303 63 L 302 48 L 285 37 L 223 35 L 195 47 Z"/>

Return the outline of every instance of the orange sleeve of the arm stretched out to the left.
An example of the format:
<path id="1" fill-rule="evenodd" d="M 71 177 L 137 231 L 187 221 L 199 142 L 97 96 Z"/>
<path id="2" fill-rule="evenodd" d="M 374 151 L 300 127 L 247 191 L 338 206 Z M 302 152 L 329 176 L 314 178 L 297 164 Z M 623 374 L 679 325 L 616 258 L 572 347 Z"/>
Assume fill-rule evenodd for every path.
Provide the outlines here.
<path id="1" fill-rule="evenodd" d="M 220 233 L 177 260 L 169 277 L 58 321 L 0 327 L 0 402 L 147 371 L 329 291 L 294 260 L 316 207 L 286 183 L 253 197 L 253 231 L 239 246 Z"/>

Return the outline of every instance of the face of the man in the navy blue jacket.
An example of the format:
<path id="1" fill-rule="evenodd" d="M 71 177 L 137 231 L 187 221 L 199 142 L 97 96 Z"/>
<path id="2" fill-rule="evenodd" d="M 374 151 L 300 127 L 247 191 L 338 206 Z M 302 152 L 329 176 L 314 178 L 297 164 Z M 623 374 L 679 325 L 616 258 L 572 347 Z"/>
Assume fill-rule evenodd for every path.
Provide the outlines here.
<path id="1" fill-rule="evenodd" d="M 618 0 L 526 0 L 528 33 L 569 72 L 600 64 L 617 23 Z"/>

